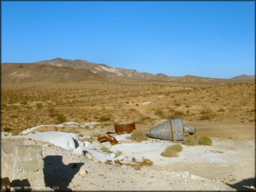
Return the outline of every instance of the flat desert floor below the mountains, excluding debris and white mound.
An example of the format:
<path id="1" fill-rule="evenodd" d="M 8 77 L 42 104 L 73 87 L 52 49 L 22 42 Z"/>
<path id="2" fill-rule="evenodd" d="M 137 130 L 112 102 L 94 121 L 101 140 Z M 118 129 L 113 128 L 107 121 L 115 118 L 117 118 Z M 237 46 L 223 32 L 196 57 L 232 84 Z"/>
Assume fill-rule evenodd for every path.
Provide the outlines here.
<path id="1" fill-rule="evenodd" d="M 173 142 L 149 139 L 120 141 L 108 146 L 127 157 L 146 157 L 154 164 L 139 170 L 125 164 L 104 164 L 46 142 L 43 146 L 47 182 L 79 190 L 254 190 L 255 84 L 253 82 L 188 84 L 183 82 L 97 81 L 57 84 L 38 82 L 2 85 L 2 129 L 20 138 L 33 133 L 62 131 L 97 138 L 117 123 L 136 123 L 145 130 L 175 117 L 208 136 L 212 146 L 186 146 L 178 157 L 160 153 Z M 150 103 L 149 103 L 150 102 Z M 57 127 L 63 122 L 99 122 L 91 128 Z M 100 146 L 94 142 L 95 146 Z M 77 169 L 71 165 L 80 163 Z M 84 173 L 83 171 L 87 171 Z M 52 180 L 49 181 L 49 180 Z M 54 182 L 53 182 L 54 180 Z"/>

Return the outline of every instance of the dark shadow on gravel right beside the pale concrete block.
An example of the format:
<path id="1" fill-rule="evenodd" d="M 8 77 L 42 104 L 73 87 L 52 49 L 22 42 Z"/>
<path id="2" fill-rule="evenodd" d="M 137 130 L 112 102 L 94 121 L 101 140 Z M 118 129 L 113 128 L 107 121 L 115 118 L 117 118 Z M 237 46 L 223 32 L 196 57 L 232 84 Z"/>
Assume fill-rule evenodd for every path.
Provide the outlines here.
<path id="1" fill-rule="evenodd" d="M 68 185 L 84 163 L 63 164 L 61 155 L 44 157 L 44 182 L 54 191 L 71 191 Z"/>

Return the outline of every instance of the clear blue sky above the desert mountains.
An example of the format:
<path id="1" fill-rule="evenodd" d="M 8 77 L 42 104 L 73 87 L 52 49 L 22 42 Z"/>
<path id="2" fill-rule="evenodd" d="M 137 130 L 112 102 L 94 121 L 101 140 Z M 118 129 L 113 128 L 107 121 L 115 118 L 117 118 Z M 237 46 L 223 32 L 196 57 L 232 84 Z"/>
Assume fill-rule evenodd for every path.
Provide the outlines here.
<path id="1" fill-rule="evenodd" d="M 255 74 L 255 1 L 2 1 L 2 62 L 62 57 L 172 76 Z"/>

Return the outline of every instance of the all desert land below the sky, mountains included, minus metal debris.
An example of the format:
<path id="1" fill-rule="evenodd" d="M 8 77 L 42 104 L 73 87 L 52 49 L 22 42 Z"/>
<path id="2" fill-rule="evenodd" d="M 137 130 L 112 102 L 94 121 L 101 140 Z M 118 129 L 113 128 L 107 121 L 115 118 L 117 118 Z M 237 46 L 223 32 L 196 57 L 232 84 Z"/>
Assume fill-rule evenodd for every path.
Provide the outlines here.
<path id="1" fill-rule="evenodd" d="M 176 118 L 196 133 L 145 135 Z M 135 131 L 115 134 L 131 123 Z M 98 142 L 107 132 L 118 144 Z M 255 191 L 255 76 L 171 77 L 61 58 L 1 64 L 1 138 L 42 146 L 50 190 Z"/>

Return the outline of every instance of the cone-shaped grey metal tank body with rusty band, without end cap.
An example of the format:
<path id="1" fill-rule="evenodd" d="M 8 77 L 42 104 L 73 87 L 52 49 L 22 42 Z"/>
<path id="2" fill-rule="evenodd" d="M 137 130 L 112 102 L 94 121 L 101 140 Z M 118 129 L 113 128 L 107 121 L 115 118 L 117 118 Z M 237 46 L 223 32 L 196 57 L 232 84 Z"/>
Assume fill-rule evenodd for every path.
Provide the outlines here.
<path id="1" fill-rule="evenodd" d="M 185 137 L 183 120 L 181 118 L 167 120 L 147 130 L 147 136 L 161 140 L 183 141 Z"/>

